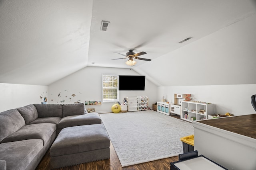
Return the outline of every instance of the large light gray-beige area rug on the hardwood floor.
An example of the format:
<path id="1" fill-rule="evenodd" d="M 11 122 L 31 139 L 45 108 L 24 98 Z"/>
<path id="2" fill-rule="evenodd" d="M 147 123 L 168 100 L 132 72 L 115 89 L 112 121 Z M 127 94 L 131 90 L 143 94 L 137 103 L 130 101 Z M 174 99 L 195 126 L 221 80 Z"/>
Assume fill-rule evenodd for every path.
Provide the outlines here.
<path id="1" fill-rule="evenodd" d="M 177 156 L 181 137 L 194 134 L 192 123 L 156 111 L 101 113 L 122 166 Z"/>

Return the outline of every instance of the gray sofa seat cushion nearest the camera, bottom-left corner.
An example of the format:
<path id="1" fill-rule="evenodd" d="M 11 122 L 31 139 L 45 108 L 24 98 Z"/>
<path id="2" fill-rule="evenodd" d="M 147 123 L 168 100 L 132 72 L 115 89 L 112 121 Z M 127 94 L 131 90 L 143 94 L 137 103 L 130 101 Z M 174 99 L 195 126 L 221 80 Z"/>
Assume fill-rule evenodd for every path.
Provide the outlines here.
<path id="1" fill-rule="evenodd" d="M 42 148 L 40 139 L 1 143 L 0 160 L 6 161 L 7 170 L 26 170 Z"/>

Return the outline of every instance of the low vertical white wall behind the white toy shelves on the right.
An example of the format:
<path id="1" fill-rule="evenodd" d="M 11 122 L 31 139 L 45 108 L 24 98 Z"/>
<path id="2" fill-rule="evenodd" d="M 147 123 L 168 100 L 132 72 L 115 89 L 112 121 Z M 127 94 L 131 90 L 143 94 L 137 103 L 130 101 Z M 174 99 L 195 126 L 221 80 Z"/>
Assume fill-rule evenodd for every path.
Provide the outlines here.
<path id="1" fill-rule="evenodd" d="M 167 100 L 173 103 L 174 94 L 192 94 L 194 101 L 215 104 L 215 113 L 256 113 L 250 100 L 250 97 L 256 94 L 256 84 L 158 87 L 158 101 L 162 96 L 166 96 Z"/>

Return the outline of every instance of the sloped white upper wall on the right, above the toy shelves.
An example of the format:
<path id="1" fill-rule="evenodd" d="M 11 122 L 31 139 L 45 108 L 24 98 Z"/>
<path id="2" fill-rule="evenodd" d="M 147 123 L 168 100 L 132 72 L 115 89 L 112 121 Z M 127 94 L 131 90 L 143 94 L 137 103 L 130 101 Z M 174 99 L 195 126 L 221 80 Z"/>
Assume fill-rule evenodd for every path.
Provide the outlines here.
<path id="1" fill-rule="evenodd" d="M 136 71 L 146 72 L 160 86 L 256 84 L 255 30 L 256 14 L 192 43 L 188 40 Z"/>

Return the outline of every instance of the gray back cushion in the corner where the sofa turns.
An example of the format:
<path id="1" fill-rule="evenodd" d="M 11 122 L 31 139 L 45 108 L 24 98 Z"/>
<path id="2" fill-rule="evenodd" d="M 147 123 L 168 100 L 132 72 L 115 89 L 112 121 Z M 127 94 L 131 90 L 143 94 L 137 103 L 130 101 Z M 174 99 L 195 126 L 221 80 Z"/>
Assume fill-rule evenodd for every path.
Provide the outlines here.
<path id="1" fill-rule="evenodd" d="M 26 125 L 36 120 L 36 118 L 38 117 L 36 107 L 32 104 L 18 108 L 18 111 L 24 118 Z"/>

